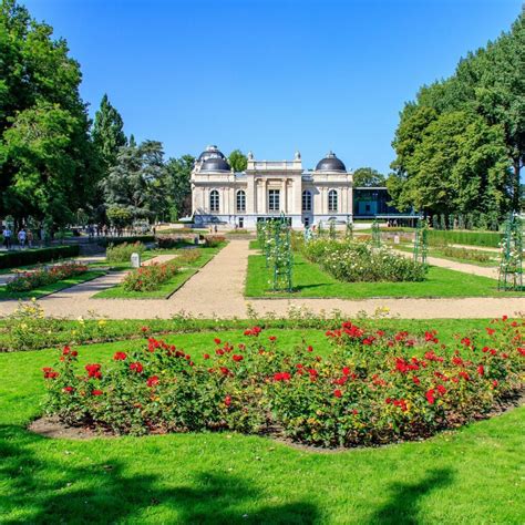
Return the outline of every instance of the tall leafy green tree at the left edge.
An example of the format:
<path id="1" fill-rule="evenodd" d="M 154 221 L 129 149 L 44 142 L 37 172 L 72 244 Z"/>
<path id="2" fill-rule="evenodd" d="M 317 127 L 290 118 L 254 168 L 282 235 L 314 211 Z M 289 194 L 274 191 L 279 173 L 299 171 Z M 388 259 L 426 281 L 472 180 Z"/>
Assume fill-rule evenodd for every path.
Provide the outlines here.
<path id="1" fill-rule="evenodd" d="M 100 163 L 64 40 L 14 0 L 0 4 L 0 215 L 64 224 L 92 197 Z"/>

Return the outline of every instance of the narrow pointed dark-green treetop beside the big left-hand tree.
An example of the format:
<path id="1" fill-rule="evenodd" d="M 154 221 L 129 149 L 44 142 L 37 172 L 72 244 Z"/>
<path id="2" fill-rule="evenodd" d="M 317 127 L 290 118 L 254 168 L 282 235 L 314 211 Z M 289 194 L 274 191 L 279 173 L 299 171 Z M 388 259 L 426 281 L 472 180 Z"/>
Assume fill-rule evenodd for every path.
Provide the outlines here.
<path id="1" fill-rule="evenodd" d="M 111 105 L 104 94 L 93 123 L 93 143 L 104 163 L 105 171 L 116 164 L 119 150 L 127 143 L 121 114 Z"/>

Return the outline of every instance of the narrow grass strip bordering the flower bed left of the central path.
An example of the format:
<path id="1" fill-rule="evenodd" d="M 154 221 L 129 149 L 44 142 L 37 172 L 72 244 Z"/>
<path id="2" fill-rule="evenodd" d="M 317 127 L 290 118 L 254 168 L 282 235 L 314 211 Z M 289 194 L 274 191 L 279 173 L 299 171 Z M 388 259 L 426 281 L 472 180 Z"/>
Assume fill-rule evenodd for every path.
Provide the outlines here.
<path id="1" fill-rule="evenodd" d="M 130 291 L 124 289 L 123 285 L 117 285 L 106 290 L 100 291 L 93 296 L 93 299 L 167 299 L 174 291 L 181 288 L 199 268 L 209 262 L 214 256 L 222 249 L 222 246 L 214 248 L 195 248 L 200 251 L 200 257 L 194 262 L 185 265 L 185 267 L 176 274 L 172 279 L 162 284 L 156 290 L 150 291 Z M 155 254 L 158 251 L 158 254 Z M 176 254 L 176 250 L 172 250 Z M 153 250 L 152 257 L 155 255 L 169 254 L 171 250 Z"/>

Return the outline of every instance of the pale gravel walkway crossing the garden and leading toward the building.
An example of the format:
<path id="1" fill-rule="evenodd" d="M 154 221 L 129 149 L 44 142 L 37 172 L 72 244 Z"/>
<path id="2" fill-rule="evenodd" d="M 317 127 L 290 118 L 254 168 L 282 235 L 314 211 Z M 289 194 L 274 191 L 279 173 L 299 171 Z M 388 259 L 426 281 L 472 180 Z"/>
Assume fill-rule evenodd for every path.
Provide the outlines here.
<path id="1" fill-rule="evenodd" d="M 294 307 L 307 308 L 316 313 L 329 313 L 337 309 L 353 317 L 358 312 L 373 315 L 378 308 L 388 308 L 391 316 L 412 319 L 491 318 L 525 311 L 525 298 L 246 300 L 243 290 L 248 244 L 248 240 L 231 240 L 168 300 L 90 299 L 95 292 L 113 286 L 119 281 L 116 279 L 122 278 L 122 274 L 111 274 L 53 294 L 39 302 L 51 316 L 76 318 L 95 311 L 113 319 L 168 319 L 181 311 L 204 318 L 246 318 L 248 303 L 260 315 L 286 315 Z M 9 313 L 16 306 L 14 301 L 0 302 L 0 315 Z"/>

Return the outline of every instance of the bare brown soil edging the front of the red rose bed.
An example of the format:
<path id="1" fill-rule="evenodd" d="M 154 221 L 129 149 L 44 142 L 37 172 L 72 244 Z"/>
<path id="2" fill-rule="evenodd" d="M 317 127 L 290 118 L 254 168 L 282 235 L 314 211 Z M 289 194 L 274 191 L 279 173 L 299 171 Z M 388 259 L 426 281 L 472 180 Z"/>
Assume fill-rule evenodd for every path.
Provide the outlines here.
<path id="1" fill-rule="evenodd" d="M 486 414 L 480 414 L 476 420 L 486 420 L 490 418 L 498 416 L 508 410 L 525 406 L 525 388 L 514 392 L 513 394 L 508 395 L 506 399 L 498 401 L 496 405 Z M 463 424 L 459 425 L 457 428 L 463 426 Z M 69 426 L 62 423 L 55 416 L 43 416 L 34 420 L 28 426 L 30 432 L 34 432 L 35 434 L 42 435 L 44 437 L 58 439 L 58 440 L 93 440 L 100 437 L 119 437 L 119 435 L 113 434 L 111 432 L 93 429 L 89 426 Z M 453 430 L 447 429 L 444 432 L 453 432 Z M 306 452 L 316 452 L 316 453 L 337 453 L 337 452 L 344 452 L 349 450 L 357 450 L 357 449 L 373 449 L 379 446 L 391 446 L 399 443 L 403 443 L 402 440 L 385 443 L 382 445 L 362 445 L 362 446 L 353 446 L 353 447 L 346 447 L 346 446 L 334 446 L 334 447 L 325 447 L 325 446 L 315 446 L 315 445 L 306 445 L 302 443 L 295 442 L 289 437 L 282 435 L 282 432 L 278 428 L 267 429 L 261 435 L 276 441 L 277 443 L 281 443 L 292 449 L 306 451 Z M 429 436 L 430 437 L 430 436 Z M 426 437 L 418 437 L 412 441 L 425 441 Z"/>

